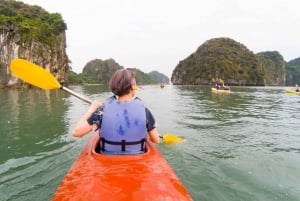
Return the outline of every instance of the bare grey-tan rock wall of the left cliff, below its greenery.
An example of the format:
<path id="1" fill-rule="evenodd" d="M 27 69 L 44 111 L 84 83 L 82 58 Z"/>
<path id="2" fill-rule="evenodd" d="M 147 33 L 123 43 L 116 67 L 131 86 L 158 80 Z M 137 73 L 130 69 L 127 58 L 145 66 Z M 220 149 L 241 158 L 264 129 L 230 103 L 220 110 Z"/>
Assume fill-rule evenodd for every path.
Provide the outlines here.
<path id="1" fill-rule="evenodd" d="M 19 43 L 15 39 L 8 38 L 11 33 L 2 30 L 0 34 L 0 87 L 20 86 L 23 81 L 14 77 L 9 64 L 14 58 L 23 58 L 50 71 L 60 83 L 68 83 L 68 56 L 65 52 L 65 34 L 58 36 L 59 41 L 53 46 L 32 41 L 31 43 Z M 18 33 L 16 33 L 18 34 Z"/>

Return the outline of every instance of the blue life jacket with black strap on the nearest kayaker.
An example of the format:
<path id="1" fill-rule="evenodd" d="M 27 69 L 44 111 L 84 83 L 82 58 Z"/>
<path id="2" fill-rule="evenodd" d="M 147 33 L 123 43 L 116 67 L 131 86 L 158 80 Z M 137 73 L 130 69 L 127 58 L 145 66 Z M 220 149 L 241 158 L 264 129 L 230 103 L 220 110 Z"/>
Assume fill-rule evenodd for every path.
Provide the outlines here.
<path id="1" fill-rule="evenodd" d="M 146 137 L 146 111 L 139 98 L 118 101 L 113 96 L 106 101 L 100 131 L 102 153 L 144 153 Z"/>

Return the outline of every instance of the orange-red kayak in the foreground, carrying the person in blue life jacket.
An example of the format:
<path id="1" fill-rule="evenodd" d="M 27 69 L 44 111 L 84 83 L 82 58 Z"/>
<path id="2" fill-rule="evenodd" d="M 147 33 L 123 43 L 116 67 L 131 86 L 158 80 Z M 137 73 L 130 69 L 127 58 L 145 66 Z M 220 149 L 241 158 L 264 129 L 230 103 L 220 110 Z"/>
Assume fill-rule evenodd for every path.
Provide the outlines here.
<path id="1" fill-rule="evenodd" d="M 156 146 L 136 155 L 97 153 L 94 134 L 61 181 L 52 201 L 193 200 Z"/>

